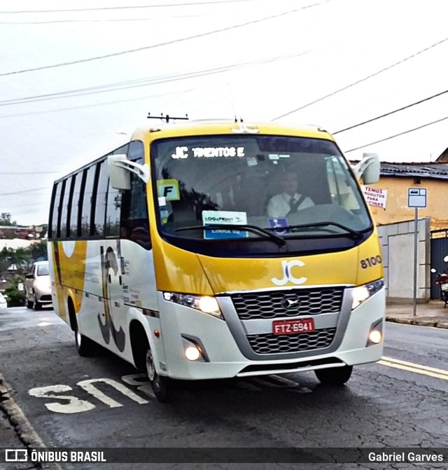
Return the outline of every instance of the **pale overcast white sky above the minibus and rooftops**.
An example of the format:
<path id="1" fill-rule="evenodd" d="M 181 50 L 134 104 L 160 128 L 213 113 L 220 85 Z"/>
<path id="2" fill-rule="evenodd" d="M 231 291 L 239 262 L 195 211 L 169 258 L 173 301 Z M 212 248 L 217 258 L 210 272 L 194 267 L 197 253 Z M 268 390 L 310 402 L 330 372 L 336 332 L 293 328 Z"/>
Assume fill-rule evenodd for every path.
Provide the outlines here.
<path id="1" fill-rule="evenodd" d="M 0 212 L 46 223 L 52 182 L 148 113 L 314 124 L 350 160 L 435 161 L 447 18 L 447 0 L 1 0 Z"/>

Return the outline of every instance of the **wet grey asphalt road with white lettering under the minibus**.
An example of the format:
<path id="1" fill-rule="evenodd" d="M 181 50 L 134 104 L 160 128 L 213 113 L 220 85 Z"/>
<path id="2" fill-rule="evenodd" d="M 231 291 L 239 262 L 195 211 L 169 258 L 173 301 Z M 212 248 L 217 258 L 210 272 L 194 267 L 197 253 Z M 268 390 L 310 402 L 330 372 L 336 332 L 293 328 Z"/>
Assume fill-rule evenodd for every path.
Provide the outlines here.
<path id="1" fill-rule="evenodd" d="M 40 439 L 48 447 L 448 448 L 447 359 L 448 330 L 386 324 L 384 358 L 355 368 L 345 387 L 323 387 L 312 372 L 270 375 L 202 383 L 164 404 L 143 375 L 113 354 L 79 357 L 73 333 L 51 309 L 0 313 L 0 373 L 12 389 L 3 408 L 15 403 L 25 415 L 29 427 L 18 429 L 23 441 Z M 255 466 L 328 468 L 59 464 L 85 470 Z"/>

